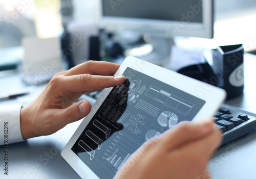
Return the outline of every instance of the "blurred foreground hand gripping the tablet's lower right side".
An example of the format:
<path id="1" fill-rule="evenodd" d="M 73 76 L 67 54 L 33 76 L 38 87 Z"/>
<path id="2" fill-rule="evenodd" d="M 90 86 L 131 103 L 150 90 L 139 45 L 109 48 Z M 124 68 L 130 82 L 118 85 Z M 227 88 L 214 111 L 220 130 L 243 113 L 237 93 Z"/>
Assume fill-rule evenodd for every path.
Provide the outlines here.
<path id="1" fill-rule="evenodd" d="M 220 142 L 211 120 L 182 122 L 142 145 L 115 178 L 210 178 L 207 164 Z"/>

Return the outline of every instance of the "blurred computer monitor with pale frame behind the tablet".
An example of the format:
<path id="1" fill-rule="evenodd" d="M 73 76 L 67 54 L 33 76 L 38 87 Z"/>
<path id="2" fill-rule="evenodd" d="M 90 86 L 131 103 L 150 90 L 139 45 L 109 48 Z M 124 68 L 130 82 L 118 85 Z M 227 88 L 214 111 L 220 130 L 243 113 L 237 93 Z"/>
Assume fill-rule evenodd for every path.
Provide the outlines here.
<path id="1" fill-rule="evenodd" d="M 214 36 L 213 0 L 98 0 L 98 3 L 101 24 L 111 32 L 130 31 L 158 39 Z M 155 44 L 159 45 L 161 42 Z"/>

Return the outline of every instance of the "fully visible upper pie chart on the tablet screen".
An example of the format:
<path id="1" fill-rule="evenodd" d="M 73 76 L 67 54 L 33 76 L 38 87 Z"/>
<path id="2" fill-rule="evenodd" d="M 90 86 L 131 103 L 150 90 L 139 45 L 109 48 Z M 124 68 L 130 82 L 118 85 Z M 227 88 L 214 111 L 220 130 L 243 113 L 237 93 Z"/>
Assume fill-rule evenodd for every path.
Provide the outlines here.
<path id="1" fill-rule="evenodd" d="M 178 116 L 174 112 L 164 111 L 158 116 L 157 122 L 163 127 L 168 126 L 171 128 L 178 123 L 178 119 Z"/>

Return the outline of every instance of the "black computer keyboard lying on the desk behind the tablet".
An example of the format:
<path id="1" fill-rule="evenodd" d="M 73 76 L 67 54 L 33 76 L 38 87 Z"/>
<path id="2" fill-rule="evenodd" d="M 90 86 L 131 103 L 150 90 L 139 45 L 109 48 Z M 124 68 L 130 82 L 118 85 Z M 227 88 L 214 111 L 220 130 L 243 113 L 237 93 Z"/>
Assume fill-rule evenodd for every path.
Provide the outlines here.
<path id="1" fill-rule="evenodd" d="M 100 93 L 101 91 L 83 94 L 79 100 L 86 99 L 93 105 Z M 243 137 L 256 128 L 256 114 L 226 104 L 221 105 L 212 119 L 216 122 L 215 126 L 223 132 L 221 145 Z"/>

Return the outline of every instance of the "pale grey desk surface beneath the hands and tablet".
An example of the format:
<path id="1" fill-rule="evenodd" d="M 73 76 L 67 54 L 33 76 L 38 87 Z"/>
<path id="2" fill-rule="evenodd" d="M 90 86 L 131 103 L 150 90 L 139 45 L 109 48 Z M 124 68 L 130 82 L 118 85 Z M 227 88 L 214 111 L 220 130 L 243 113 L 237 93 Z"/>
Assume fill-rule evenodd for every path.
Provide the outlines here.
<path id="1" fill-rule="evenodd" d="M 254 73 L 256 56 L 245 55 L 245 89 L 244 94 L 226 101 L 227 104 L 241 107 L 250 112 L 256 112 L 256 94 L 254 93 Z M 11 89 L 26 87 L 20 81 L 17 73 L 5 75 L 0 73 L 0 93 Z M 11 86 L 12 85 L 12 86 Z M 45 85 L 30 87 L 32 94 L 16 100 L 2 101 L 0 105 L 23 103 L 33 100 Z M 25 142 L 10 144 L 9 175 L 3 173 L 0 167 L 0 178 L 79 178 L 70 166 L 61 158 L 60 152 L 66 145 L 81 121 L 67 125 L 62 130 L 50 136 L 28 139 Z M 230 147 L 232 146 L 232 147 Z M 3 146 L 0 146 L 0 148 Z M 230 145 L 224 145 L 209 163 L 212 178 L 255 178 L 256 131 L 240 138 Z M 1 150 L 2 151 L 2 150 Z M 0 165 L 4 163 L 4 152 L 0 153 Z M 198 176 L 198 178 L 204 178 Z"/>

